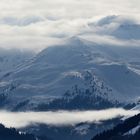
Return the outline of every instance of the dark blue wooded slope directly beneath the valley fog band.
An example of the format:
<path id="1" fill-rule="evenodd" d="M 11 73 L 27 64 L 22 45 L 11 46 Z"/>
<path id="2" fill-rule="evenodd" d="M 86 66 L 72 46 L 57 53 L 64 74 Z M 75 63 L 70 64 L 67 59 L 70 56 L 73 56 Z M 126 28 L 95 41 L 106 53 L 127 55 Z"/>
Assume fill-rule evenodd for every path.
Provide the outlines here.
<path id="1" fill-rule="evenodd" d="M 43 135 L 51 138 L 52 140 L 89 140 L 93 135 L 102 132 L 105 129 L 110 129 L 117 125 L 120 119 L 112 119 L 108 121 L 96 123 L 79 123 L 77 125 L 66 126 L 49 126 L 44 124 L 32 125 L 21 131 L 27 131 L 34 135 Z"/>

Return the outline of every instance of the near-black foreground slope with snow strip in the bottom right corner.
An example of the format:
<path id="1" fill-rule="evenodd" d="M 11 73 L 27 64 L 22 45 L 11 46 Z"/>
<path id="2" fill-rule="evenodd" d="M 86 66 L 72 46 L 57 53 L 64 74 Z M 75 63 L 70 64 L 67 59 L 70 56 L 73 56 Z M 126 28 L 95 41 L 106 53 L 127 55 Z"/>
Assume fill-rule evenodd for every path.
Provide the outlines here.
<path id="1" fill-rule="evenodd" d="M 139 140 L 140 114 L 118 124 L 111 130 L 96 135 L 92 140 Z"/>

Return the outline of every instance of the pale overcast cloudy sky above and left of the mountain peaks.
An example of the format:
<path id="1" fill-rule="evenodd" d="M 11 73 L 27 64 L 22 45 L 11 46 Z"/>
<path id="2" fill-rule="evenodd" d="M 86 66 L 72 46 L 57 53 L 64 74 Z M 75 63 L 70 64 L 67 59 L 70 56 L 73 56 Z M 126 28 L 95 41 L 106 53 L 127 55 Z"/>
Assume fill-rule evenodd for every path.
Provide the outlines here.
<path id="1" fill-rule="evenodd" d="M 139 13 L 139 0 L 0 0 L 0 46 L 44 47 L 103 16 Z"/>

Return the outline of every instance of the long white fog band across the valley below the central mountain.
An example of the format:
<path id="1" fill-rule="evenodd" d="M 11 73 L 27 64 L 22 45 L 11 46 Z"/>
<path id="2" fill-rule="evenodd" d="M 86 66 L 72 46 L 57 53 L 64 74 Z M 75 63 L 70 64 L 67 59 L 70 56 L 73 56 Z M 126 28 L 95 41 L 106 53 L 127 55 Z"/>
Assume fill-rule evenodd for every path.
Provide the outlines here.
<path id="1" fill-rule="evenodd" d="M 8 112 L 0 111 L 0 123 L 7 127 L 22 128 L 31 124 L 63 126 L 81 122 L 97 123 L 116 117 L 129 117 L 138 114 L 137 110 L 113 108 L 100 111 L 48 111 L 48 112 Z"/>

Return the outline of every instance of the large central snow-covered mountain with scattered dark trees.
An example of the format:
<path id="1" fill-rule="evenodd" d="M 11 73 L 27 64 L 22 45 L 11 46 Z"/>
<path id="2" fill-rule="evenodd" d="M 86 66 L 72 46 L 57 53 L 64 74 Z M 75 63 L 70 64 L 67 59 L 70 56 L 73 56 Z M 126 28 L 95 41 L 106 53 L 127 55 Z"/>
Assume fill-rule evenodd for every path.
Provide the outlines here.
<path id="1" fill-rule="evenodd" d="M 72 37 L 6 73 L 1 95 L 15 110 L 95 109 L 129 103 L 139 97 L 139 56 L 139 47 L 102 46 Z"/>

